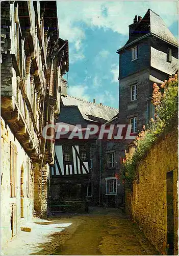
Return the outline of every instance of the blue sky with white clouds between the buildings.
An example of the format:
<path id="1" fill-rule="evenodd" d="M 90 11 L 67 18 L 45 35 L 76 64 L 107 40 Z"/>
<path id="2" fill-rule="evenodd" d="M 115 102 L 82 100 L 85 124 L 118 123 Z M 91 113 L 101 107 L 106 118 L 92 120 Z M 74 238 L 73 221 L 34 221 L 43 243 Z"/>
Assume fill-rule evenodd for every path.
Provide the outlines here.
<path id="1" fill-rule="evenodd" d="M 119 55 L 135 15 L 158 13 L 178 37 L 177 1 L 58 1 L 59 36 L 69 40 L 68 94 L 118 108 Z M 65 76 L 67 79 L 67 76 Z"/>

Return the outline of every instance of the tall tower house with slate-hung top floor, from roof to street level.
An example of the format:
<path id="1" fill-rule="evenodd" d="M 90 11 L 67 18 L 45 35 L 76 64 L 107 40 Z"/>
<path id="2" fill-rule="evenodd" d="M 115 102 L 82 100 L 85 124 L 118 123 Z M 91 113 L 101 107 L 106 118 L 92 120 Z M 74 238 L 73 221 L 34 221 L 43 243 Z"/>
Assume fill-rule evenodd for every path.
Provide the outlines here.
<path id="1" fill-rule="evenodd" d="M 119 54 L 119 115 L 108 124 L 132 125 L 131 135 L 136 136 L 154 117 L 152 85 L 163 83 L 177 71 L 178 42 L 162 18 L 148 9 L 144 17 L 135 16 L 129 26 L 129 40 L 117 51 Z M 125 134 L 125 128 L 123 134 Z M 102 142 L 103 166 L 101 172 L 101 201 L 117 206 L 123 201 L 121 158 L 130 139 Z M 110 163 L 109 163 L 110 161 Z M 117 175 L 117 176 L 116 176 Z M 111 193 L 108 194 L 108 183 Z M 118 196 L 117 196 L 118 195 Z"/>

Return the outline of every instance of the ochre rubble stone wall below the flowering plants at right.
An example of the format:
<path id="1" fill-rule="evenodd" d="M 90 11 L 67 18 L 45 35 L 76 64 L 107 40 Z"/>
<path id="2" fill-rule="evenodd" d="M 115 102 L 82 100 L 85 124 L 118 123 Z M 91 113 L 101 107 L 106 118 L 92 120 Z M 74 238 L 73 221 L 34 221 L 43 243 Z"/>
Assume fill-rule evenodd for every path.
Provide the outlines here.
<path id="1" fill-rule="evenodd" d="M 174 253 L 177 254 L 177 141 L 175 129 L 151 148 L 138 165 L 139 175 L 133 182 L 133 192 L 126 190 L 125 197 L 126 211 L 162 254 L 167 253 L 167 232 L 171 231 L 172 221 Z M 171 171 L 173 183 L 172 180 L 167 183 L 167 173 Z"/>

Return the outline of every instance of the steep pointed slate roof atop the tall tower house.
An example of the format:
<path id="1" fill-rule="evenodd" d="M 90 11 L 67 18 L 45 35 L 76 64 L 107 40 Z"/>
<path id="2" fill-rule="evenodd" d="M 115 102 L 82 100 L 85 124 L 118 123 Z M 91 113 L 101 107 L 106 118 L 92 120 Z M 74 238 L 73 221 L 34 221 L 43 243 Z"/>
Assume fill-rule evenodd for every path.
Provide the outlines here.
<path id="1" fill-rule="evenodd" d="M 126 48 L 134 41 L 140 40 L 150 34 L 155 35 L 176 47 L 178 46 L 177 39 L 170 32 L 163 19 L 154 11 L 148 9 L 144 17 L 141 19 L 141 22 L 139 22 L 138 26 L 136 26 L 136 28 L 134 29 L 132 35 L 130 36 L 130 39 L 126 42 L 124 47 L 120 48 L 117 52 Z"/>

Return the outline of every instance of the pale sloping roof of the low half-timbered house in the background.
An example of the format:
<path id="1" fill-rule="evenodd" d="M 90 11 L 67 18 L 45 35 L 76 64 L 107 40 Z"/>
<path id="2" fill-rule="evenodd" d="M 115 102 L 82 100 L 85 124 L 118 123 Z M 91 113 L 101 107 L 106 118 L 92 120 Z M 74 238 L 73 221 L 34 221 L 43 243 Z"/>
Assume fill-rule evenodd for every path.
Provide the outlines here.
<path id="1" fill-rule="evenodd" d="M 69 95 L 61 97 L 61 102 L 62 106 L 78 106 L 83 118 L 88 121 L 105 123 L 119 112 L 118 109 L 110 106 L 92 103 Z"/>

